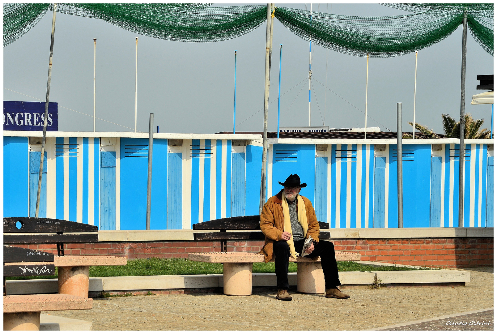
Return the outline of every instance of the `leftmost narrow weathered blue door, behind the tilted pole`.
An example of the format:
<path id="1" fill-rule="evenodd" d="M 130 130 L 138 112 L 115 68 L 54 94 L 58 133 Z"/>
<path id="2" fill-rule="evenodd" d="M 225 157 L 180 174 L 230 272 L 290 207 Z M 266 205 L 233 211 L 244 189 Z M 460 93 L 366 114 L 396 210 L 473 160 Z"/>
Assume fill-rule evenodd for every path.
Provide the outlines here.
<path id="1" fill-rule="evenodd" d="M 29 216 L 35 217 L 38 179 L 40 175 L 41 152 L 29 152 Z M 40 208 L 38 217 L 47 217 L 47 154 L 43 157 L 43 172 L 40 189 Z"/>

